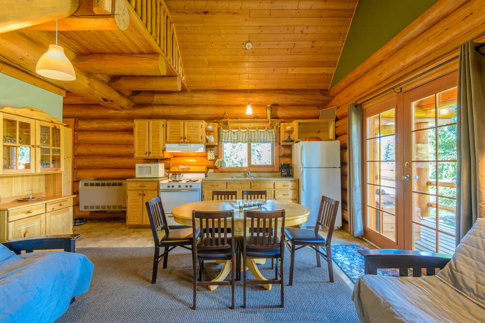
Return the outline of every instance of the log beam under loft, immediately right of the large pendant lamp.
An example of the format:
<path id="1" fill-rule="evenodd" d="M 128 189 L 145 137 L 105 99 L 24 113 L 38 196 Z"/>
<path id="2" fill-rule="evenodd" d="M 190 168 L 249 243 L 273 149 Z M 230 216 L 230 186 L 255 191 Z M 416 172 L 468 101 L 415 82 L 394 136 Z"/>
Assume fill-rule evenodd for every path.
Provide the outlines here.
<path id="1" fill-rule="evenodd" d="M 146 75 L 167 74 L 167 63 L 161 54 L 93 54 L 79 56 L 77 68 L 92 74 Z"/>

